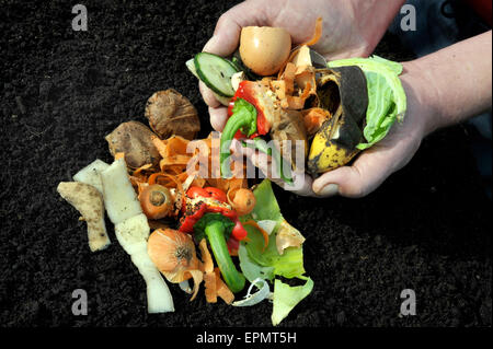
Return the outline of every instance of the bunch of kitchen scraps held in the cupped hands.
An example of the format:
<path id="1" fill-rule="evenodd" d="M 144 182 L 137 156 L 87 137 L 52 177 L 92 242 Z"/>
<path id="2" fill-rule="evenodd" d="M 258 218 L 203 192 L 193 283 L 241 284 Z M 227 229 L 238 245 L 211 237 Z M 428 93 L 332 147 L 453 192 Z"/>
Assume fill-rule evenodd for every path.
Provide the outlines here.
<path id="1" fill-rule="evenodd" d="M 231 175 L 232 139 L 254 140 L 248 147 L 270 155 L 279 178 L 291 184 L 283 163 L 305 171 L 308 160 L 308 173 L 317 177 L 348 164 L 403 120 L 402 65 L 378 56 L 326 62 L 312 48 L 321 37 L 321 18 L 312 37 L 294 48 L 282 27 L 246 26 L 231 57 L 200 53 L 186 62 L 209 89 L 228 91 L 219 93 L 219 102 L 228 106 L 220 140 L 225 178 Z M 260 140 L 275 141 L 276 149 Z M 301 151 L 297 142 L 303 144 Z"/>

